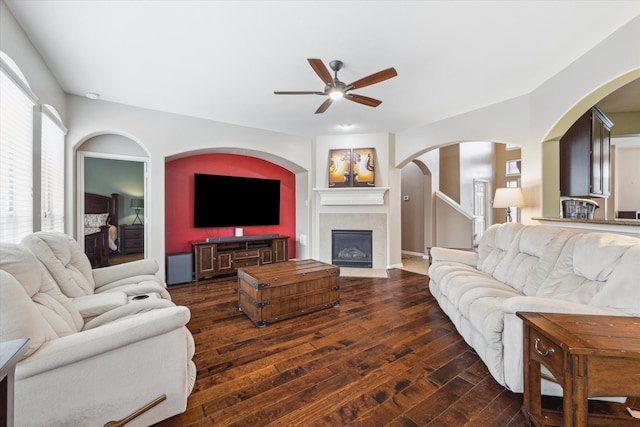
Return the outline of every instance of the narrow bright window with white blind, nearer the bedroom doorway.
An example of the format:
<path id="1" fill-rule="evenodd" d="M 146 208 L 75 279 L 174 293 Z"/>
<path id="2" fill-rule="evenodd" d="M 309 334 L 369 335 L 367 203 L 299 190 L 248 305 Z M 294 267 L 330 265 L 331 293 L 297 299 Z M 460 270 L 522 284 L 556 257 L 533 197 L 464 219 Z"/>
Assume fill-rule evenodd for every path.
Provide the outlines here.
<path id="1" fill-rule="evenodd" d="M 64 136 L 58 115 L 42 106 L 41 230 L 64 232 Z"/>

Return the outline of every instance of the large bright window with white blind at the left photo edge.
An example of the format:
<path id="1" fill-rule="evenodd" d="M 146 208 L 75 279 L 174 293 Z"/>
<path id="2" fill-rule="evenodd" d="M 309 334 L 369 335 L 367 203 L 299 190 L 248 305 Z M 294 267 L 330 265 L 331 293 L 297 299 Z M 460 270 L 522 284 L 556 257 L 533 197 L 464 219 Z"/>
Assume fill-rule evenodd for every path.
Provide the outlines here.
<path id="1" fill-rule="evenodd" d="M 0 241 L 18 243 L 33 231 L 33 106 L 0 68 Z"/>

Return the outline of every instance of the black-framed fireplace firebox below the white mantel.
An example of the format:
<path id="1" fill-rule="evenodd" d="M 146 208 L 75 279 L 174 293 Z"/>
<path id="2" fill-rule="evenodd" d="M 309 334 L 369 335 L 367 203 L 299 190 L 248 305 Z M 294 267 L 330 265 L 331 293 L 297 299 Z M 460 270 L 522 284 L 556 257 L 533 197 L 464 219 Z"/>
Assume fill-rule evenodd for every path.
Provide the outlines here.
<path id="1" fill-rule="evenodd" d="M 339 267 L 372 268 L 371 230 L 331 230 L 331 263 Z"/>

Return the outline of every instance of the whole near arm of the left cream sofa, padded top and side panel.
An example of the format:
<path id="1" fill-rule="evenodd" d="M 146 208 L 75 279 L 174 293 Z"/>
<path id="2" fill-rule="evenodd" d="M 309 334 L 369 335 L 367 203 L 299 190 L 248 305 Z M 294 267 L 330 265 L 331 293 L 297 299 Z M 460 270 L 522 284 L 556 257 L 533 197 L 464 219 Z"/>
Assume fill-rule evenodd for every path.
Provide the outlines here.
<path id="1" fill-rule="evenodd" d="M 186 307 L 114 321 L 45 343 L 16 368 L 16 425 L 102 426 L 161 395 L 127 426 L 184 412 L 196 369 Z"/>

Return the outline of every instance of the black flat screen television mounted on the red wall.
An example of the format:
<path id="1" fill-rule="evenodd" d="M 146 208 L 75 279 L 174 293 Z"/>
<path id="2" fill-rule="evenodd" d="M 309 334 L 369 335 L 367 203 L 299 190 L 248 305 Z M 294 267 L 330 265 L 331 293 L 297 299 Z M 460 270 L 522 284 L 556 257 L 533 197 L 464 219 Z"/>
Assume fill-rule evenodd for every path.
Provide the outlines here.
<path id="1" fill-rule="evenodd" d="M 279 224 L 279 180 L 194 174 L 195 228 Z"/>

